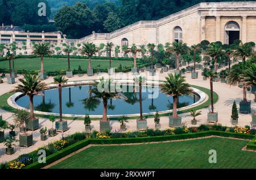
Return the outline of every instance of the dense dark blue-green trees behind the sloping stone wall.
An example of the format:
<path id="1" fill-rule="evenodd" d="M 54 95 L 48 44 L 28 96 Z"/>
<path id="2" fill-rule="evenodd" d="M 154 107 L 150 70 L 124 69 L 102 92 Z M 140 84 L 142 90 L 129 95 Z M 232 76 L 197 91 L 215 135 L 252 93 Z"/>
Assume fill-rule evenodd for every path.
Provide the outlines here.
<path id="1" fill-rule="evenodd" d="M 46 2 L 47 16 L 37 15 L 39 2 Z M 200 2 L 205 1 L 0 0 L 0 20 L 2 23 L 13 23 L 29 31 L 59 30 L 67 34 L 68 38 L 81 38 L 90 35 L 92 31 L 112 32 L 139 20 L 160 19 Z M 47 19 L 54 19 L 55 23 L 47 23 Z"/>

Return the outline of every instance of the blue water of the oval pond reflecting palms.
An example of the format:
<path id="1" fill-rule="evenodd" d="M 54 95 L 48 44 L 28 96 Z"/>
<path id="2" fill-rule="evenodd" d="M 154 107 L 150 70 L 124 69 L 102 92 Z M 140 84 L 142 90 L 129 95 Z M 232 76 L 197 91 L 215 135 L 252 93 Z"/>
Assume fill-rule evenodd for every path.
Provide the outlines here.
<path id="1" fill-rule="evenodd" d="M 102 115 L 102 101 L 98 98 L 87 100 L 89 96 L 93 96 L 88 93 L 90 88 L 90 85 L 63 88 L 63 114 Z M 133 85 L 127 85 L 126 88 L 128 92 L 122 92 L 125 99 L 116 98 L 108 101 L 108 115 L 139 114 L 139 88 Z M 151 98 L 152 95 L 156 98 Z M 199 100 L 199 95 L 194 93 L 180 96 L 177 108 L 195 104 Z M 143 114 L 166 112 L 172 109 L 173 102 L 173 98 L 161 92 L 159 87 L 142 87 Z M 17 98 L 16 104 L 28 109 L 28 96 Z M 49 89 L 34 96 L 34 108 L 39 112 L 59 113 L 58 90 Z"/>

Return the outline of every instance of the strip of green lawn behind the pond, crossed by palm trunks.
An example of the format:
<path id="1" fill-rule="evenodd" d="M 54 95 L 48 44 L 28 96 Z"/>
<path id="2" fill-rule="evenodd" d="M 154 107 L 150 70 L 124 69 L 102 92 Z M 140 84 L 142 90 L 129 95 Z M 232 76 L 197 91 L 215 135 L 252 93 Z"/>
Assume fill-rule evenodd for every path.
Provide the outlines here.
<path id="1" fill-rule="evenodd" d="M 71 59 L 71 68 L 72 70 L 75 68 L 78 69 L 79 65 L 81 66 L 82 70 L 86 70 L 88 67 L 88 59 Z M 23 70 L 26 69 L 28 71 L 36 71 L 40 70 L 40 58 L 33 58 L 33 59 L 15 59 L 14 60 L 15 69 L 16 70 Z M 112 67 L 119 67 L 120 64 L 122 67 L 133 65 L 133 61 L 112 61 Z M 109 68 L 109 61 L 108 60 L 92 60 L 92 67 L 96 70 L 97 65 L 101 65 L 101 69 Z M 0 68 L 9 69 L 9 61 L 2 61 L 0 62 Z M 67 70 L 68 68 L 68 61 L 67 59 L 53 59 L 53 58 L 44 58 L 44 70 L 45 71 L 55 71 L 55 70 Z"/>

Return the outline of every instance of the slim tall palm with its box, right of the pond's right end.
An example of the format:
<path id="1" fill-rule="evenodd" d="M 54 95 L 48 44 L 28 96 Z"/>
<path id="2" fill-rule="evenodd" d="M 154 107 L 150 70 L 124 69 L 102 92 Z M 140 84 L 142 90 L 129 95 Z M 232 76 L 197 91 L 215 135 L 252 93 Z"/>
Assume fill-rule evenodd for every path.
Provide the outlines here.
<path id="1" fill-rule="evenodd" d="M 218 121 L 218 113 L 214 112 L 213 106 L 213 78 L 217 77 L 217 73 L 210 70 L 205 73 L 205 77 L 210 79 L 210 112 L 207 114 L 207 121 L 216 123 Z"/>

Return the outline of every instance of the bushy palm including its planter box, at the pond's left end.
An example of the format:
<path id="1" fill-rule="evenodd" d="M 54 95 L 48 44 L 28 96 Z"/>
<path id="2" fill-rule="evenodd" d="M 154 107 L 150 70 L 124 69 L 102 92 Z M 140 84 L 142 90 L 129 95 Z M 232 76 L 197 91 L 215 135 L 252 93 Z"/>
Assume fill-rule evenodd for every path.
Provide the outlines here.
<path id="1" fill-rule="evenodd" d="M 21 92 L 30 98 L 30 119 L 26 123 L 27 130 L 37 130 L 39 128 L 39 119 L 34 115 L 34 96 L 36 93 L 47 89 L 47 85 L 39 80 L 36 75 L 26 74 L 24 79 L 19 79 L 18 86 L 15 87 L 14 92 Z"/>

